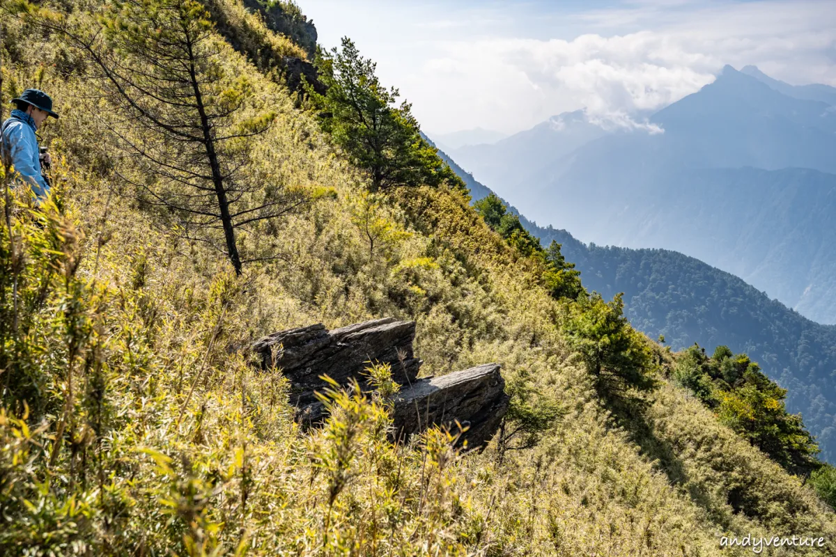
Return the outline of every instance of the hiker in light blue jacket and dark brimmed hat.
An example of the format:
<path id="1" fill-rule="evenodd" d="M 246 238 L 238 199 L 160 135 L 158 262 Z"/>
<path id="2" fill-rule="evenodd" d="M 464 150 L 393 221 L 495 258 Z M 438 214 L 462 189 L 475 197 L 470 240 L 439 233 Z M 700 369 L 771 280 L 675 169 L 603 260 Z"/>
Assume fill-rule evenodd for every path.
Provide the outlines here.
<path id="1" fill-rule="evenodd" d="M 50 160 L 48 153 L 42 159 L 35 131 L 48 116 L 58 118 L 58 114 L 53 112 L 49 95 L 38 89 L 26 89 L 12 102 L 17 108 L 2 128 L 3 163 L 11 164 L 18 180 L 31 186 L 38 201 L 43 201 L 49 195 L 49 184 L 41 175 L 41 162 L 48 166 Z"/>

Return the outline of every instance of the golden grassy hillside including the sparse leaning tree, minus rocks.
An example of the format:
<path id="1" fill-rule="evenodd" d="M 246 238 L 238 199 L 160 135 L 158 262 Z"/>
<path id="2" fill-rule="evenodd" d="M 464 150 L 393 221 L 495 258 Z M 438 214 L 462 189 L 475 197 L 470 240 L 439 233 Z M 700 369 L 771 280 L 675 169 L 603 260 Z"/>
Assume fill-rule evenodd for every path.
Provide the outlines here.
<path id="1" fill-rule="evenodd" d="M 618 301 L 555 288 L 559 249 L 493 231 L 408 106 L 370 96 L 408 143 L 371 156 L 323 120 L 339 91 L 288 91 L 264 60 L 298 47 L 242 8 L 3 3 L 3 99 L 39 87 L 61 119 L 47 203 L 3 176 L 0 553 L 742 555 L 721 537 L 748 534 L 833 554 L 805 479 L 676 386 Z M 376 83 L 354 56 L 365 77 L 332 86 Z M 393 152 L 410 171 L 375 182 Z M 299 428 L 248 347 L 378 316 L 417 322 L 425 373 L 500 362 L 518 438 L 392 445 L 383 388 Z"/>

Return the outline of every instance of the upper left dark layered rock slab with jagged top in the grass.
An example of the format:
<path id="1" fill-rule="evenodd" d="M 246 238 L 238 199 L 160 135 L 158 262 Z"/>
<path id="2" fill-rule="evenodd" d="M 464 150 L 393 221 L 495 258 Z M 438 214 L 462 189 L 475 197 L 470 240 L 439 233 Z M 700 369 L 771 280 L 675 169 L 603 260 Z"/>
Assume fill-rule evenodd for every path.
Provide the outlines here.
<path id="1" fill-rule="evenodd" d="M 331 332 L 322 324 L 281 331 L 263 337 L 253 349 L 261 356 L 264 369 L 271 367 L 275 352 L 276 366 L 291 383 L 290 403 L 299 408 L 300 419 L 315 422 L 322 416 L 322 403 L 314 392 L 328 387 L 321 375 L 340 385 L 356 379 L 363 390 L 370 390 L 364 370 L 368 362 L 380 362 L 391 365 L 395 381 L 415 382 L 421 360 L 412 352 L 414 339 L 414 321 L 387 317 Z"/>

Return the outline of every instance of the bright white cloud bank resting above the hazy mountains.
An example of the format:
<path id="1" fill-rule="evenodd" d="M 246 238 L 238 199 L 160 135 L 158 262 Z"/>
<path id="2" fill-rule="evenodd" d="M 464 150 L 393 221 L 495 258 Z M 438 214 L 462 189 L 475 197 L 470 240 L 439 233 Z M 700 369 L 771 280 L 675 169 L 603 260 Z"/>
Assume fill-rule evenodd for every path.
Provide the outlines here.
<path id="1" fill-rule="evenodd" d="M 607 126 L 658 132 L 630 114 L 681 99 L 711 83 L 722 65 L 651 32 L 572 41 L 482 39 L 447 43 L 444 50 L 421 75 L 443 81 L 444 96 L 463 116 L 490 118 L 489 125 L 504 129 L 585 108 Z M 442 102 L 441 94 L 431 99 L 435 106 Z"/>

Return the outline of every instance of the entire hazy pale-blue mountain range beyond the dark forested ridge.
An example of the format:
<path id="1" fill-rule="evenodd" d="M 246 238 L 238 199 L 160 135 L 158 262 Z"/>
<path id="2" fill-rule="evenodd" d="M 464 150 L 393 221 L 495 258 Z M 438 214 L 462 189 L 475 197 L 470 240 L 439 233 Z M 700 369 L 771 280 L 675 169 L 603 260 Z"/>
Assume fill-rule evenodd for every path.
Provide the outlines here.
<path id="1" fill-rule="evenodd" d="M 726 66 L 650 116 L 662 133 L 604 129 L 579 111 L 450 154 L 540 223 L 682 251 L 836 323 L 834 103 L 836 88 Z"/>

